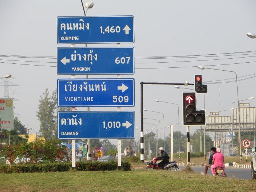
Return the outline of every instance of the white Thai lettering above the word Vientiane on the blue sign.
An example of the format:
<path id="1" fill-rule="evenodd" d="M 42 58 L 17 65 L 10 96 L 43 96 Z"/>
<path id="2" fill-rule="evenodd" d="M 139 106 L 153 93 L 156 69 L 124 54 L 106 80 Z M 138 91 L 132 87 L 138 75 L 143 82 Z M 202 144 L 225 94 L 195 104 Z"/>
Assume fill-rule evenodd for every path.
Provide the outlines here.
<path id="1" fill-rule="evenodd" d="M 88 84 L 88 82 L 84 81 L 82 84 L 76 84 L 73 81 L 68 81 L 65 84 L 65 92 L 77 92 L 77 91 L 89 91 L 89 92 L 104 92 L 106 91 L 106 82 L 102 82 L 102 84 Z"/>

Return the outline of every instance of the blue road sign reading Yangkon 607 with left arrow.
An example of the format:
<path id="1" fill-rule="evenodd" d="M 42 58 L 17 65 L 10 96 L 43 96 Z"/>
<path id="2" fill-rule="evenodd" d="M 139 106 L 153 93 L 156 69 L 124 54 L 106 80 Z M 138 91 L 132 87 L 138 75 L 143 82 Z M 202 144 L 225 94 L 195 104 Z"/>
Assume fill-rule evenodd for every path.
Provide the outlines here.
<path id="1" fill-rule="evenodd" d="M 134 48 L 57 48 L 58 74 L 134 74 Z"/>

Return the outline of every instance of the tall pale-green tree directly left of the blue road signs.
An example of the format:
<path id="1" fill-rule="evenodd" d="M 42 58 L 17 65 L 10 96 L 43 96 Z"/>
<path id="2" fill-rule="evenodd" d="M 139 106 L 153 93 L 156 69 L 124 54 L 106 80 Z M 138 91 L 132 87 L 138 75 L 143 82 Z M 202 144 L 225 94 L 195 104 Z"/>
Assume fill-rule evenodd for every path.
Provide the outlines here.
<path id="1" fill-rule="evenodd" d="M 46 139 L 53 139 L 57 137 L 56 129 L 56 100 L 57 91 L 49 95 L 49 90 L 46 88 L 43 95 L 40 96 L 37 117 L 40 120 L 40 134 Z"/>

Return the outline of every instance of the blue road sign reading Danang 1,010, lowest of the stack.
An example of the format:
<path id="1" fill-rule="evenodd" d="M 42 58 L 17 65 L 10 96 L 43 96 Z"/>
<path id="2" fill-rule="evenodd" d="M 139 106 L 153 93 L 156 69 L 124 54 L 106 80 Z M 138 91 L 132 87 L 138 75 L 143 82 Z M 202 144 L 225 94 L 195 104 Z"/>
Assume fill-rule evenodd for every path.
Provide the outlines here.
<path id="1" fill-rule="evenodd" d="M 58 112 L 59 139 L 135 138 L 134 111 Z"/>

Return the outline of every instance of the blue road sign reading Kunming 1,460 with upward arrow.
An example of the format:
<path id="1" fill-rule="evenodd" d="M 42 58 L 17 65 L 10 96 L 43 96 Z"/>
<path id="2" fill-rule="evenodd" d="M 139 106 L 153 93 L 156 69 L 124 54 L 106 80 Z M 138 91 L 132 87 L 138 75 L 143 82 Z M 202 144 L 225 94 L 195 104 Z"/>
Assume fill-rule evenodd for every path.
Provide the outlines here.
<path id="1" fill-rule="evenodd" d="M 57 17 L 58 44 L 133 43 L 134 16 Z"/>

